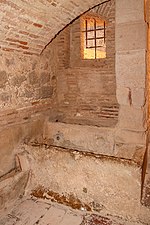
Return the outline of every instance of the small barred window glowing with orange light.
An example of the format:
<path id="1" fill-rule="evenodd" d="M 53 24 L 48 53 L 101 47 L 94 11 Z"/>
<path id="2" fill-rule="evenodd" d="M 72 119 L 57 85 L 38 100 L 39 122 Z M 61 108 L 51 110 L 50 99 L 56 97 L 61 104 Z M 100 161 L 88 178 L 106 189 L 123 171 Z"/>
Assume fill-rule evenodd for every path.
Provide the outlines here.
<path id="1" fill-rule="evenodd" d="M 81 55 L 83 59 L 106 58 L 106 23 L 97 17 L 81 19 Z"/>

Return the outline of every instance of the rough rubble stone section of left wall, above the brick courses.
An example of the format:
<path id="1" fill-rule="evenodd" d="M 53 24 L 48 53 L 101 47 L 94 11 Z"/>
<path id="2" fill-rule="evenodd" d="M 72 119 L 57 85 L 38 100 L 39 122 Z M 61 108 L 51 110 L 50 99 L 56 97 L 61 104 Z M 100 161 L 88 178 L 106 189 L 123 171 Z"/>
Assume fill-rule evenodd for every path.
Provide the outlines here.
<path id="1" fill-rule="evenodd" d="M 50 53 L 50 52 L 49 52 Z M 52 53 L 49 54 L 51 60 Z M 0 54 L 0 108 L 24 108 L 53 97 L 52 67 L 45 57 Z"/>

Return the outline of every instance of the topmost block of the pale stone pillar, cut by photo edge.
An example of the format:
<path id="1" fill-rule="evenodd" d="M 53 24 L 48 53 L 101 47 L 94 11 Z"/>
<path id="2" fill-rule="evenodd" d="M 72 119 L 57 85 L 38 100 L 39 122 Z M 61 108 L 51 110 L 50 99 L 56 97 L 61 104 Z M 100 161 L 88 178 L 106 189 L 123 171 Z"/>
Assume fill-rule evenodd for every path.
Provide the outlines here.
<path id="1" fill-rule="evenodd" d="M 116 23 L 144 21 L 143 0 L 117 0 Z"/>

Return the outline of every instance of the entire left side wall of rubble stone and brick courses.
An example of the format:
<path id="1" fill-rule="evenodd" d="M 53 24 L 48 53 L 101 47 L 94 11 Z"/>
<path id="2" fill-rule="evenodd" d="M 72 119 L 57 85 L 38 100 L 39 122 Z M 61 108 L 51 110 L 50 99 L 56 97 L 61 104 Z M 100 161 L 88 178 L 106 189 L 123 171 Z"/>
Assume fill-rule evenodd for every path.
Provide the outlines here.
<path id="1" fill-rule="evenodd" d="M 0 52 L 0 176 L 15 168 L 20 142 L 42 135 L 55 99 L 54 58 L 53 44 L 41 57 Z"/>

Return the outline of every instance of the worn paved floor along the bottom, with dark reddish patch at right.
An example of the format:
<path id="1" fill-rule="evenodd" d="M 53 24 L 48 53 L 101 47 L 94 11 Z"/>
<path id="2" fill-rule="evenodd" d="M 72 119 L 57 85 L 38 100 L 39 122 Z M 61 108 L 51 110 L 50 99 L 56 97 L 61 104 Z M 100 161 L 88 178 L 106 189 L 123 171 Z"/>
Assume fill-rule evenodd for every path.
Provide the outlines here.
<path id="1" fill-rule="evenodd" d="M 0 225 L 142 225 L 142 223 L 75 211 L 45 200 L 28 198 L 20 201 L 7 214 L 1 215 Z"/>

